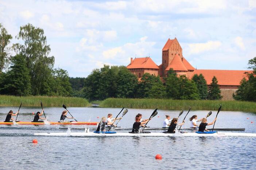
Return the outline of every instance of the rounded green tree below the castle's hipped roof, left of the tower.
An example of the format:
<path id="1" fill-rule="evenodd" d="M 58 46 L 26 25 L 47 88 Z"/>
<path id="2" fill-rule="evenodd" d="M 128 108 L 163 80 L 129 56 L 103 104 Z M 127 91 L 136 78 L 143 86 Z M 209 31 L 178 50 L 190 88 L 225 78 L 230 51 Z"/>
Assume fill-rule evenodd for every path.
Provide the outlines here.
<path id="1" fill-rule="evenodd" d="M 150 90 L 154 84 L 162 83 L 160 77 L 144 73 L 138 84 L 137 97 L 148 98 L 150 97 Z"/>

